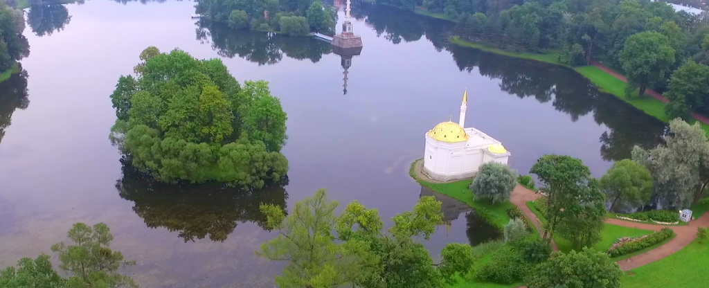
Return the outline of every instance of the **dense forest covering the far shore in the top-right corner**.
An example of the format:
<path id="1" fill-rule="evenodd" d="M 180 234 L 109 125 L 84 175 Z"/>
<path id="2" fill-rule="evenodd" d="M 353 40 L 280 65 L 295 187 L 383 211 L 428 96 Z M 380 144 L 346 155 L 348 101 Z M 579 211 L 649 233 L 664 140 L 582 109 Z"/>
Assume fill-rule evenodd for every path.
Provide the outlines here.
<path id="1" fill-rule="evenodd" d="M 598 60 L 625 74 L 628 95 L 664 92 L 670 118 L 709 115 L 709 13 L 649 0 L 378 1 L 444 13 L 457 21 L 453 33 L 464 40 L 556 52 L 566 65 Z"/>

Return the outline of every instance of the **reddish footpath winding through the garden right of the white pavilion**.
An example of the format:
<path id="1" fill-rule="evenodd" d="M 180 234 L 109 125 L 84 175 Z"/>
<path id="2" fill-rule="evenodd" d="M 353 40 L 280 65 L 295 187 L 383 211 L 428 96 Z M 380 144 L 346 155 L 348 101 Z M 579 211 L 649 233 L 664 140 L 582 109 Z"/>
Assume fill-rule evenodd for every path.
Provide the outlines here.
<path id="1" fill-rule="evenodd" d="M 527 189 L 520 184 L 515 187 L 510 196 L 510 202 L 512 202 L 512 204 L 515 204 L 515 206 L 517 206 L 520 210 L 524 212 L 527 218 L 530 218 L 532 220 L 532 223 L 534 223 L 535 227 L 537 227 L 537 231 L 539 231 L 540 234 L 542 233 L 541 221 L 527 207 L 527 201 L 532 201 L 541 196 L 541 194 L 537 194 L 534 191 Z M 606 219 L 605 223 L 651 231 L 660 231 L 661 228 L 668 227 L 671 228 L 672 231 L 674 231 L 674 233 L 676 234 L 674 238 L 672 238 L 667 243 L 661 245 L 658 248 L 654 248 L 653 250 L 649 250 L 645 253 L 618 261 L 618 265 L 620 265 L 621 270 L 631 270 L 667 257 L 672 253 L 681 250 L 682 248 L 684 248 L 684 246 L 689 245 L 689 243 L 691 243 L 694 238 L 697 237 L 698 227 L 709 227 L 709 213 L 705 213 L 700 218 L 690 221 L 689 224 L 686 226 L 662 226 L 647 223 L 636 223 L 632 221 L 623 221 L 613 218 Z M 558 250 L 557 245 L 553 242 L 552 244 L 554 250 Z"/>

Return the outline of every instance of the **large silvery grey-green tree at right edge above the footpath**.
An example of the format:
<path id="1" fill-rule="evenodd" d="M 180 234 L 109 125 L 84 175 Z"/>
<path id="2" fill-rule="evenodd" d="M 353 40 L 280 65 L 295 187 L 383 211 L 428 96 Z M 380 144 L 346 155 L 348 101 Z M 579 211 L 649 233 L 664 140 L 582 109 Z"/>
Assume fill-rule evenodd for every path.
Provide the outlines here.
<path id="1" fill-rule="evenodd" d="M 699 123 L 677 118 L 669 123 L 665 145 L 645 150 L 635 147 L 632 160 L 652 174 L 654 204 L 684 209 L 703 198 L 709 184 L 709 141 Z"/>

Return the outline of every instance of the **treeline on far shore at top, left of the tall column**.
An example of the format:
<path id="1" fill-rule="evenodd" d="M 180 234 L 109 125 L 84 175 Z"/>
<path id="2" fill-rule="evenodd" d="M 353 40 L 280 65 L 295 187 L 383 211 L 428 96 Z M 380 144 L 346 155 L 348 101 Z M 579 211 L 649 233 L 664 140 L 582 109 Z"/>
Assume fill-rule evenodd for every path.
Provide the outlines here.
<path id="1" fill-rule="evenodd" d="M 335 34 L 337 11 L 320 0 L 197 0 L 196 13 L 230 28 Z"/>

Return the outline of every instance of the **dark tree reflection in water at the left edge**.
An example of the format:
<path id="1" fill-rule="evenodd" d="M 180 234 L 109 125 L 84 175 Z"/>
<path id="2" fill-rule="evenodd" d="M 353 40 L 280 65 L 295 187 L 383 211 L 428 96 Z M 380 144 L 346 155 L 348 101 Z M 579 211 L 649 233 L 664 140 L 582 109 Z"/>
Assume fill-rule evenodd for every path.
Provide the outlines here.
<path id="1" fill-rule="evenodd" d="M 5 129 L 11 124 L 12 114 L 16 109 L 27 109 L 30 104 L 27 94 L 27 71 L 18 66 L 20 72 L 0 82 L 0 143 L 5 136 Z"/>

